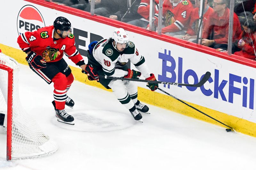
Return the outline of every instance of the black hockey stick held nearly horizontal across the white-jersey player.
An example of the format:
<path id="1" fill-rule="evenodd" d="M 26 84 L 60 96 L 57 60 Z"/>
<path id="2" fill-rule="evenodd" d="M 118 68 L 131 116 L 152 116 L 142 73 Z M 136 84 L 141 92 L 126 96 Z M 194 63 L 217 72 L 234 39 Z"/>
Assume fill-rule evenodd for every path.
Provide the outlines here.
<path id="1" fill-rule="evenodd" d="M 110 76 L 100 76 L 100 75 L 99 75 L 99 78 L 139 81 L 139 82 L 146 82 L 146 83 L 158 83 L 158 84 L 165 84 L 165 85 L 182 85 L 182 86 L 190 86 L 190 87 L 201 87 L 210 78 L 210 76 L 211 76 L 211 73 L 207 71 L 204 77 L 201 79 L 201 81 L 199 81 L 197 84 L 171 83 L 171 82 L 164 82 L 164 81 L 152 81 L 152 80 L 143 80 L 143 79 L 136 79 L 136 78 L 122 78 L 122 77 L 110 77 Z"/>

